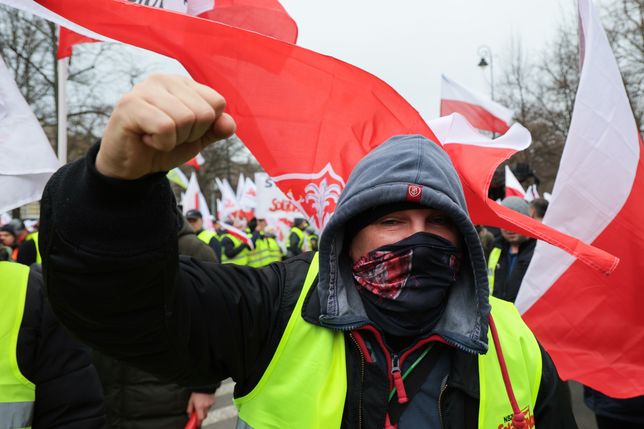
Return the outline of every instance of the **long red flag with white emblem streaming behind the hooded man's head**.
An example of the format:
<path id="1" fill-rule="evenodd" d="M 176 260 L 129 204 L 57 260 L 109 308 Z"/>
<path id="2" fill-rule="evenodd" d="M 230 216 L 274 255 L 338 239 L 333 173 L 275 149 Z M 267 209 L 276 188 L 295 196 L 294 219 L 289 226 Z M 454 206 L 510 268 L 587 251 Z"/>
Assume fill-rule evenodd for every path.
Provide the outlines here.
<path id="1" fill-rule="evenodd" d="M 385 82 L 271 37 L 123 0 L 0 2 L 20 8 L 36 4 L 51 19 L 179 60 L 196 80 L 226 98 L 240 138 L 320 230 L 351 170 L 371 149 L 398 134 L 422 134 L 438 141 L 418 112 Z M 473 218 L 556 243 L 602 272 L 614 269 L 611 255 L 535 227 L 488 202 L 489 168 L 511 153 L 493 149 L 481 161 L 462 151 L 450 152 L 474 164 L 472 171 L 461 171 L 461 178 L 468 180 L 464 187 L 468 206 L 475 208 Z M 471 167 L 454 161 L 460 168 Z"/>

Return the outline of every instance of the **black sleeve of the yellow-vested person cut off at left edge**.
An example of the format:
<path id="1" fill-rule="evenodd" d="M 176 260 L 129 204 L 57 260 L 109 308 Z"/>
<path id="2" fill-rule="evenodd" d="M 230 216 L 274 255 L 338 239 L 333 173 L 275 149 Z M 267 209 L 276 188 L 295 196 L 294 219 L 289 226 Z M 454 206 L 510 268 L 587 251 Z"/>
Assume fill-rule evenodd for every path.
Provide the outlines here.
<path id="1" fill-rule="evenodd" d="M 36 385 L 33 427 L 103 428 L 103 390 L 88 351 L 60 325 L 42 292 L 42 277 L 29 276 L 19 335 L 21 371 Z"/>

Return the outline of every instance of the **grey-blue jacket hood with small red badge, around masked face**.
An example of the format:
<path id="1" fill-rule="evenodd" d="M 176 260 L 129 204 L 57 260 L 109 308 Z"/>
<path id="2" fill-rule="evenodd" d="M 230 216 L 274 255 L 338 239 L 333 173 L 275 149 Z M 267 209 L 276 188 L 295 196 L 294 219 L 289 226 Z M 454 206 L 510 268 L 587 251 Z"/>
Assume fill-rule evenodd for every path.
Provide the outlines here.
<path id="1" fill-rule="evenodd" d="M 463 240 L 462 268 L 433 333 L 461 349 L 484 353 L 490 305 L 483 249 L 449 156 L 420 135 L 390 138 L 367 154 L 351 173 L 320 239 L 320 323 L 345 330 L 369 323 L 345 249 L 350 244 L 345 237 L 349 239 L 357 231 L 345 228 L 368 209 L 409 202 L 448 213 Z"/>

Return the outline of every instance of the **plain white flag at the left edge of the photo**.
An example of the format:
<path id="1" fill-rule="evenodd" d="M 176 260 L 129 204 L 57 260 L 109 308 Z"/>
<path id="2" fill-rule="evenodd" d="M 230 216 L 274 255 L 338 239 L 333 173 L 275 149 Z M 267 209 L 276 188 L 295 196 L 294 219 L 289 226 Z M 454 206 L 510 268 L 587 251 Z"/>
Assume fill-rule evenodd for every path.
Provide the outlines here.
<path id="1" fill-rule="evenodd" d="M 0 58 L 0 213 L 39 200 L 58 159 Z"/>

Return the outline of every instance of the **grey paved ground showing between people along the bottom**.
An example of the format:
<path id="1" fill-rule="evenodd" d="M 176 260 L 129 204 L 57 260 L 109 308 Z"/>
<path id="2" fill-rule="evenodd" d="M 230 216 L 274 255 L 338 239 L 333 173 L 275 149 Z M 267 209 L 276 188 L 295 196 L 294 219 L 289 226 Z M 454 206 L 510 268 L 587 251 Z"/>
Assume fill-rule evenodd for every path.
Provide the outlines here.
<path id="1" fill-rule="evenodd" d="M 237 412 L 232 404 L 233 398 L 232 381 L 225 381 L 217 391 L 217 402 L 215 408 L 208 414 L 208 419 L 202 426 L 203 429 L 234 429 L 237 419 Z M 577 425 L 579 429 L 597 429 L 595 417 L 592 412 L 584 405 L 582 400 L 582 390 L 578 383 L 570 383 L 572 394 L 572 405 Z"/>

